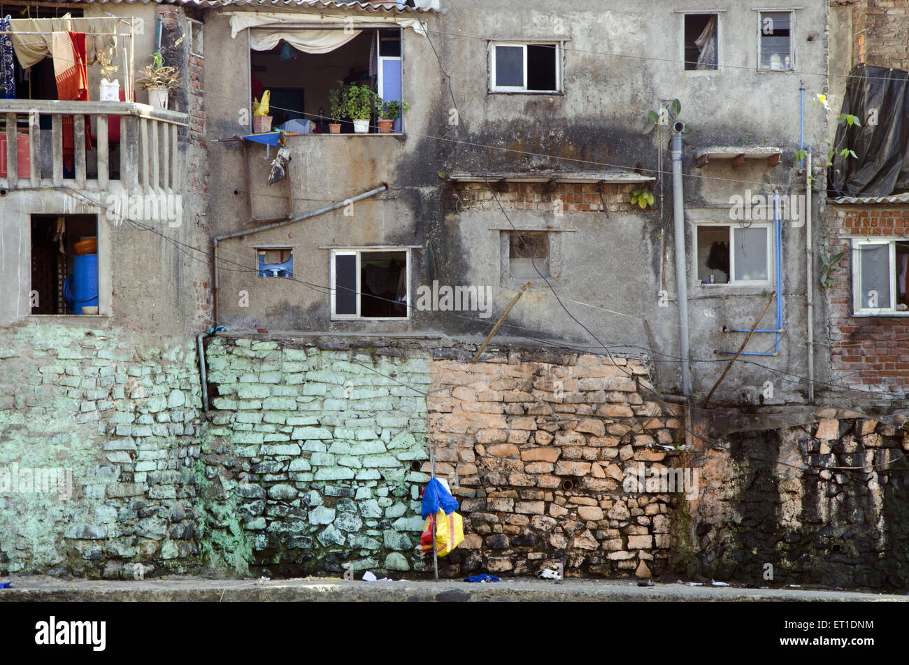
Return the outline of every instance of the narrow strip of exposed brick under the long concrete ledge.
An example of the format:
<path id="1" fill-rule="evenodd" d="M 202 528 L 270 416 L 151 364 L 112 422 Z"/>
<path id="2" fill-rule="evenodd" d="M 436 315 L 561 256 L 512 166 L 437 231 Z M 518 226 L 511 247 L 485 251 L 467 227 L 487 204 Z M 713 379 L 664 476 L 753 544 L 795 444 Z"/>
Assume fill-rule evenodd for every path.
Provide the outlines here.
<path id="1" fill-rule="evenodd" d="M 604 184 L 602 197 L 595 183 L 505 183 L 498 186 L 496 196 L 505 210 L 540 210 L 552 213 L 557 201 L 565 213 L 609 212 L 631 210 L 631 193 L 636 184 Z M 498 210 L 493 193 L 484 183 L 456 183 L 445 195 L 445 207 L 450 210 Z"/>

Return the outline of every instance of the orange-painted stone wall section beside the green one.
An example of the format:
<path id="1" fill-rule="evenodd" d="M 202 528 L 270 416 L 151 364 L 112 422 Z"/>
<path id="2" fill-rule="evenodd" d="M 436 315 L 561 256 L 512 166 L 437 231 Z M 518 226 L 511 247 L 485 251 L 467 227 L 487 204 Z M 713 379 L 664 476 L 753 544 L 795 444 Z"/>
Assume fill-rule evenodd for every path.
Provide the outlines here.
<path id="1" fill-rule="evenodd" d="M 654 402 L 639 360 L 507 352 L 486 362 L 436 352 L 427 398 L 436 473 L 461 501 L 464 543 L 443 574 L 664 571 L 668 493 L 624 491 L 625 468 L 672 466 L 683 423 Z M 573 489 L 566 481 L 574 483 Z"/>

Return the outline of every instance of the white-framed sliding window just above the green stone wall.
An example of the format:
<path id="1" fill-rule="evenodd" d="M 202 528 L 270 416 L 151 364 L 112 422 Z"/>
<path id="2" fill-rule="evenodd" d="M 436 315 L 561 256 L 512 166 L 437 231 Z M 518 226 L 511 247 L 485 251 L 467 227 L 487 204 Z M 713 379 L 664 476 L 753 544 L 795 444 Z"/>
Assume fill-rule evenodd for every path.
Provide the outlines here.
<path id="1" fill-rule="evenodd" d="M 332 320 L 410 318 L 410 248 L 331 251 Z"/>

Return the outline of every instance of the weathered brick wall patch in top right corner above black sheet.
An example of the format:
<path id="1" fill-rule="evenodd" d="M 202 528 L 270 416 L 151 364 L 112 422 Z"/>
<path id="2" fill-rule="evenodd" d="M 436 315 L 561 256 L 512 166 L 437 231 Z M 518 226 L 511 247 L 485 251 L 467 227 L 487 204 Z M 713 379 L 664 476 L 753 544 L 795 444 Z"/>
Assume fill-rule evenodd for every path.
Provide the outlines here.
<path id="1" fill-rule="evenodd" d="M 909 69 L 909 0 L 853 5 L 853 65 Z"/>

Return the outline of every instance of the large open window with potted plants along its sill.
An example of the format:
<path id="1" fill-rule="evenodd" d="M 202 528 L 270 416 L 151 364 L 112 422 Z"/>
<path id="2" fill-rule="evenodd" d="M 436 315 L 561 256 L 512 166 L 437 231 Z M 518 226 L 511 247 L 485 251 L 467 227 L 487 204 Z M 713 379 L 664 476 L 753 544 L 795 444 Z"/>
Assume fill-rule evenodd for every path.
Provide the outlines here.
<path id="1" fill-rule="evenodd" d="M 400 28 L 250 30 L 250 101 L 270 91 L 272 127 L 298 134 L 328 134 L 330 93 L 344 84 L 366 85 L 385 102 L 403 98 Z M 341 134 L 352 134 L 350 118 Z M 375 114 L 370 133 L 377 127 Z M 402 118 L 394 131 L 402 131 Z"/>

